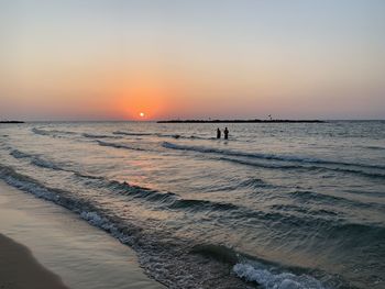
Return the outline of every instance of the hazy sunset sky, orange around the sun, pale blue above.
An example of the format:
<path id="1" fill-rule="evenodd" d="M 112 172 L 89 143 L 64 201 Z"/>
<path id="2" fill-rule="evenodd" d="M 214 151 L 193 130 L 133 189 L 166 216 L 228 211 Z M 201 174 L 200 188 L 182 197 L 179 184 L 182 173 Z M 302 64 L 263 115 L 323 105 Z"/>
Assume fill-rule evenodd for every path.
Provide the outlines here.
<path id="1" fill-rule="evenodd" d="M 383 0 L 0 0 L 0 119 L 385 119 L 384 15 Z"/>

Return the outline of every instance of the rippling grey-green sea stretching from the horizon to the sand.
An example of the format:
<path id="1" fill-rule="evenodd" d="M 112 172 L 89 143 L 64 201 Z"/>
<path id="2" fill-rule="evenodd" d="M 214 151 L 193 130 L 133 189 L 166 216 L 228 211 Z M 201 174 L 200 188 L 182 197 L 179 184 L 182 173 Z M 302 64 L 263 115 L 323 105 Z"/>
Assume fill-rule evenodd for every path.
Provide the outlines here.
<path id="1" fill-rule="evenodd" d="M 385 121 L 0 124 L 0 179 L 168 288 L 385 288 Z"/>

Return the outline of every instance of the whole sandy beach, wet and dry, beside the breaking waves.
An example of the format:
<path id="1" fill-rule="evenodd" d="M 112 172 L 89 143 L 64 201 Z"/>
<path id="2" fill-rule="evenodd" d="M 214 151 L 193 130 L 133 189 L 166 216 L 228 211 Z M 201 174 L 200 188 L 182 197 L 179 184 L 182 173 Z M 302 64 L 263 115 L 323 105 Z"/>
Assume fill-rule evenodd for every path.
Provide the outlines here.
<path id="1" fill-rule="evenodd" d="M 1 289 L 164 288 L 135 254 L 51 202 L 0 181 Z"/>

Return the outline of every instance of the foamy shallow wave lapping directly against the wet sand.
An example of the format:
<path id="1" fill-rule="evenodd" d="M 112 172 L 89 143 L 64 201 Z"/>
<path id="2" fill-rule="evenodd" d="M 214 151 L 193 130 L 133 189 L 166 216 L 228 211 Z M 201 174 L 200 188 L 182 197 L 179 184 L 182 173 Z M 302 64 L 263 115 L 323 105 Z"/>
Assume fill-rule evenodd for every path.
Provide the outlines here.
<path id="1" fill-rule="evenodd" d="M 146 273 L 170 289 L 212 288 L 213 285 L 222 289 L 229 288 L 229 285 L 231 288 L 244 288 L 241 280 L 227 274 L 227 266 L 221 268 L 220 264 L 208 263 L 196 257 L 195 254 L 188 254 L 175 242 L 164 243 L 160 240 L 164 232 L 151 233 L 128 220 L 122 221 L 111 211 L 98 208 L 89 199 L 46 187 L 36 179 L 16 173 L 11 167 L 0 165 L 0 178 L 10 186 L 79 214 L 91 225 L 106 231 L 121 243 L 130 245 L 139 254 L 139 262 Z M 166 237 L 166 240 L 169 238 Z"/>

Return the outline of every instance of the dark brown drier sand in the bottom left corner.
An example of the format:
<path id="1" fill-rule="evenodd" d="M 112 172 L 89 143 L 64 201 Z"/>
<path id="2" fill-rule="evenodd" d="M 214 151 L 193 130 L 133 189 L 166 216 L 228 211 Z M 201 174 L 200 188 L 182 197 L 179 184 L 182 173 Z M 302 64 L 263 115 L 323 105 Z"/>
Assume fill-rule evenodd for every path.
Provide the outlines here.
<path id="1" fill-rule="evenodd" d="M 0 233 L 0 288 L 69 289 L 24 245 Z"/>

